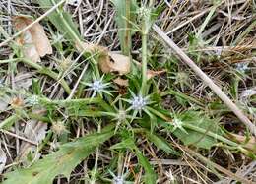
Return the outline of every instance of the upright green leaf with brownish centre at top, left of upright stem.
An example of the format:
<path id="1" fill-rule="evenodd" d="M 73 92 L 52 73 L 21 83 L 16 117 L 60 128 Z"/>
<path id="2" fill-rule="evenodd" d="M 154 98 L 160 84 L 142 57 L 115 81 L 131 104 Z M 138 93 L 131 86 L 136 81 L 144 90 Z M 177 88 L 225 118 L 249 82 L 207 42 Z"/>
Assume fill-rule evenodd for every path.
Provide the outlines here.
<path id="1" fill-rule="evenodd" d="M 130 54 L 132 24 L 135 21 L 137 3 L 135 0 L 111 0 L 116 10 L 116 23 L 121 49 L 125 55 Z"/>

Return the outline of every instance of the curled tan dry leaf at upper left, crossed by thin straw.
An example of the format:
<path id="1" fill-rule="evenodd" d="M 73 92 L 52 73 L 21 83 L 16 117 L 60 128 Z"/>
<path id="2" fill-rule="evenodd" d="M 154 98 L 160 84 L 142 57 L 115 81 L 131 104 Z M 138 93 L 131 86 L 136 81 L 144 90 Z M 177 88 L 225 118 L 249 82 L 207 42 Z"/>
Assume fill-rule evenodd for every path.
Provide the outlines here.
<path id="1" fill-rule="evenodd" d="M 14 25 L 18 31 L 30 24 L 32 24 L 32 19 L 28 17 L 17 16 L 14 18 Z M 52 54 L 50 41 L 39 23 L 35 23 L 29 30 L 23 31 L 17 41 L 23 47 L 25 57 L 33 62 L 40 61 L 40 57 L 46 54 Z"/>

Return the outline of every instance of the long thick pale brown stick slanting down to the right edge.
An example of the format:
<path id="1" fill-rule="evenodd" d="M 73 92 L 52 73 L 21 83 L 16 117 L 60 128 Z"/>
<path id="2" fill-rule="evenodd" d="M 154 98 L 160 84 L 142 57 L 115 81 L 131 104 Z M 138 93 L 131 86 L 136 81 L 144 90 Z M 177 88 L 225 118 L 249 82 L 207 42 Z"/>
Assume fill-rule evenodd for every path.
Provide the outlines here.
<path id="1" fill-rule="evenodd" d="M 218 87 L 157 25 L 153 26 L 159 36 L 176 52 L 176 54 L 209 86 L 229 107 L 230 110 L 248 127 L 250 132 L 256 137 L 255 125 L 243 114 L 243 112 L 228 98 L 228 96 Z"/>

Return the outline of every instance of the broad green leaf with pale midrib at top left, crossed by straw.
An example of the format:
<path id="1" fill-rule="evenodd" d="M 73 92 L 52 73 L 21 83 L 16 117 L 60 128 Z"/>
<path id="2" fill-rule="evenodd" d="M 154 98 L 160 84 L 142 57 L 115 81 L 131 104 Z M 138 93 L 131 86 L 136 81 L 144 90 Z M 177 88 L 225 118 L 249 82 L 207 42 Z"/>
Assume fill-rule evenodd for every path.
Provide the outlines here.
<path id="1" fill-rule="evenodd" d="M 49 9 L 56 5 L 60 0 L 37 0 L 40 7 Z M 72 21 L 69 13 L 59 7 L 48 15 L 50 22 L 57 28 L 58 31 L 64 34 L 71 41 L 78 42 L 82 40 L 77 26 Z"/>

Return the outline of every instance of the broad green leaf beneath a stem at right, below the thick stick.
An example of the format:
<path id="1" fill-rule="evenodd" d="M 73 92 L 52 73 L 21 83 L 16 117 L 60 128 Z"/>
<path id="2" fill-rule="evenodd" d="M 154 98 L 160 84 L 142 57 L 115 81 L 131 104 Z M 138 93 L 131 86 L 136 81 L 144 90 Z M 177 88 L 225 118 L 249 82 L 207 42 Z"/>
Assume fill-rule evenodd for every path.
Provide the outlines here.
<path id="1" fill-rule="evenodd" d="M 216 119 L 210 119 L 197 111 L 187 111 L 178 117 L 182 121 L 182 126 L 186 129 L 183 132 L 176 129 L 173 134 L 185 145 L 194 145 L 198 148 L 210 149 L 218 140 L 208 133 L 221 135 L 221 128 Z M 202 132 L 203 130 L 203 132 Z"/>

